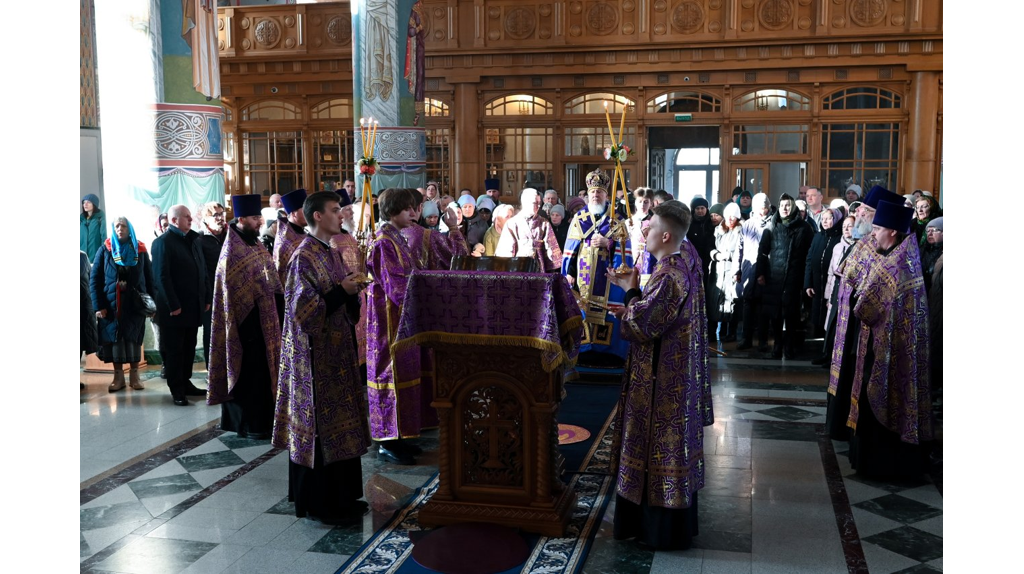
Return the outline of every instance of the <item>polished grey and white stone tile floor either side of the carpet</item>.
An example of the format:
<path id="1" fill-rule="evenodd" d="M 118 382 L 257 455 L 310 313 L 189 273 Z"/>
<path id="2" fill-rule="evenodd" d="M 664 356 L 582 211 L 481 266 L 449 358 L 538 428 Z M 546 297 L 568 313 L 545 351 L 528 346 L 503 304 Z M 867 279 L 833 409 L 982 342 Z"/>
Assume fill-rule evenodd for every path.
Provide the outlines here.
<path id="1" fill-rule="evenodd" d="M 612 501 L 583 572 L 941 571 L 941 474 L 913 484 L 859 479 L 846 443 L 819 435 L 826 370 L 734 346 L 712 360 L 716 423 L 695 547 L 613 540 Z M 109 376 L 82 374 L 83 572 L 333 573 L 436 471 L 430 436 L 415 467 L 368 454 L 373 512 L 360 526 L 296 519 L 285 453 L 217 430 L 219 407 L 174 406 L 157 367 L 144 378 L 145 390 L 112 395 Z"/>

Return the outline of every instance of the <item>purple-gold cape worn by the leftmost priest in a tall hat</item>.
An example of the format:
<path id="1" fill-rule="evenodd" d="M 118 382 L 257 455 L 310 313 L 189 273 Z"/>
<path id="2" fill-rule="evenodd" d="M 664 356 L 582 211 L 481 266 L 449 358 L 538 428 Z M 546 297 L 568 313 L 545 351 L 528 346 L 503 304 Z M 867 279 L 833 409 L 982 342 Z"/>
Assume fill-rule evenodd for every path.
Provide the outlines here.
<path id="1" fill-rule="evenodd" d="M 281 325 L 274 303 L 278 293 L 282 293 L 282 285 L 270 254 L 259 241 L 247 242 L 234 226 L 229 225 L 213 280 L 207 404 L 221 404 L 232 399 L 231 392 L 242 372 L 240 327 L 254 309 L 259 311 L 270 379 L 252 383 L 276 388 L 281 357 Z"/>

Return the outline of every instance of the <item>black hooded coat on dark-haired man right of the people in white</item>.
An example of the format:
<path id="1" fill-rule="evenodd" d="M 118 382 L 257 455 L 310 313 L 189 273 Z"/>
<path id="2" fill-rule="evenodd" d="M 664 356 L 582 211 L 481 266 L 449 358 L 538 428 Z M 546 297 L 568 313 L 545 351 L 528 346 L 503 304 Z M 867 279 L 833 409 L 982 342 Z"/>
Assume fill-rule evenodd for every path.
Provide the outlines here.
<path id="1" fill-rule="evenodd" d="M 800 304 L 807 252 L 811 248 L 811 226 L 794 216 L 787 222 L 776 213 L 772 226 L 765 229 L 758 246 L 758 276 L 764 276 L 762 309 L 771 315 L 777 308 Z"/>

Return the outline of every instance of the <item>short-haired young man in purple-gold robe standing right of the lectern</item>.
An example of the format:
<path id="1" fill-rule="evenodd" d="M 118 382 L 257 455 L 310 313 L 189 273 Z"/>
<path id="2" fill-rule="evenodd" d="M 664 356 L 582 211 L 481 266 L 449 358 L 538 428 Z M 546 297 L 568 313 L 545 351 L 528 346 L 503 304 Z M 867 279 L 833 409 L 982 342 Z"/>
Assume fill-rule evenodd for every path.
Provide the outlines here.
<path id="1" fill-rule="evenodd" d="M 690 211 L 677 201 L 654 208 L 645 249 L 657 259 L 641 294 L 640 274 L 609 272 L 626 292 L 613 310 L 630 343 L 618 400 L 615 539 L 685 549 L 697 534 L 705 485 L 703 427 L 715 415 L 708 373 L 701 261 L 683 239 Z"/>

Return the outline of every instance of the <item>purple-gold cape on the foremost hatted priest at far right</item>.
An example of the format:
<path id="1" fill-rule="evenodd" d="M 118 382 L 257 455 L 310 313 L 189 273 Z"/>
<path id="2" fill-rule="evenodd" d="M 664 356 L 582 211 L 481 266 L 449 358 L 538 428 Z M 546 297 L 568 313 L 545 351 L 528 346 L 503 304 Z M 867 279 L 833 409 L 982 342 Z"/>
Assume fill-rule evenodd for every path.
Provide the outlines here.
<path id="1" fill-rule="evenodd" d="M 861 328 L 847 426 L 857 428 L 857 403 L 861 386 L 866 384 L 871 413 L 879 424 L 906 443 L 931 440 L 928 293 L 912 233 L 871 266 L 853 312 Z M 864 372 L 869 341 L 874 361 L 870 372 Z"/>

